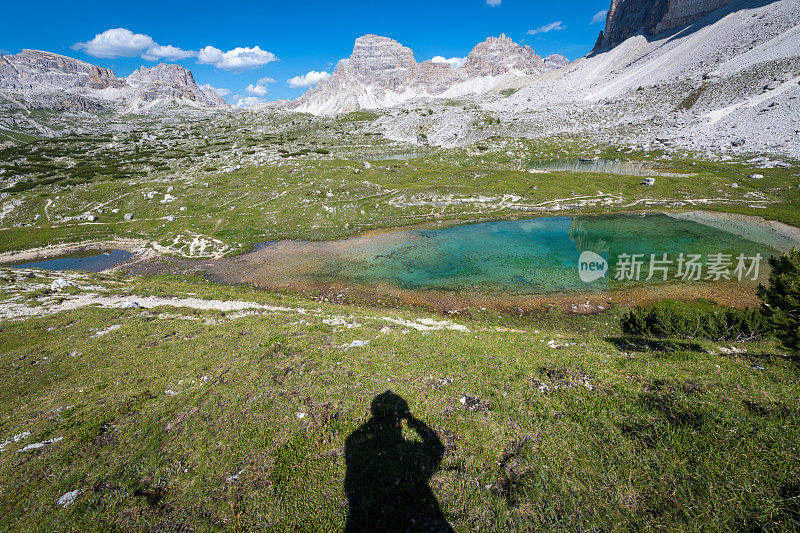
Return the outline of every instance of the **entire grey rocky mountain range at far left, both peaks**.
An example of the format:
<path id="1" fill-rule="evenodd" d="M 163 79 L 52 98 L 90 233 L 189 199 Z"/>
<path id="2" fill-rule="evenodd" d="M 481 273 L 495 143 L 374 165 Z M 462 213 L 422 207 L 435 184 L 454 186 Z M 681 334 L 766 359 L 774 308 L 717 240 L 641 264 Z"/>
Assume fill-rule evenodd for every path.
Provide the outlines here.
<path id="1" fill-rule="evenodd" d="M 0 90 L 28 95 L 34 107 L 56 111 L 97 111 L 104 105 L 96 100 L 109 99 L 119 103 L 177 99 L 203 106 L 226 105 L 214 91 L 198 87 L 192 73 L 179 65 L 142 67 L 128 78 L 118 78 L 111 69 L 39 50 L 0 54 Z"/>

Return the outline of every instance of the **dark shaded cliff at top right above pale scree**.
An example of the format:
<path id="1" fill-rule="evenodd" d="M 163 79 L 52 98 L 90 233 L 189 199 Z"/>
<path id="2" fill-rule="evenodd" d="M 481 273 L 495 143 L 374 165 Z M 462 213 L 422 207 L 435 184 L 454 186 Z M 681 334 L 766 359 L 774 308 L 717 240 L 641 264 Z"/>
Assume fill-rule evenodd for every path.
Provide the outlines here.
<path id="1" fill-rule="evenodd" d="M 644 35 L 680 28 L 695 22 L 731 0 L 611 0 L 605 31 L 595 51 L 608 50 L 641 32 Z"/>

